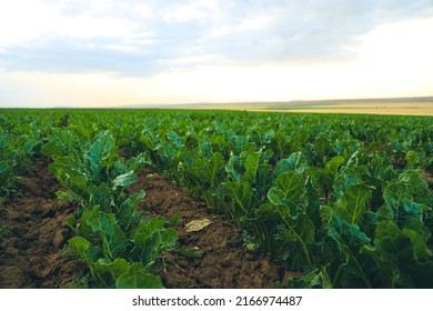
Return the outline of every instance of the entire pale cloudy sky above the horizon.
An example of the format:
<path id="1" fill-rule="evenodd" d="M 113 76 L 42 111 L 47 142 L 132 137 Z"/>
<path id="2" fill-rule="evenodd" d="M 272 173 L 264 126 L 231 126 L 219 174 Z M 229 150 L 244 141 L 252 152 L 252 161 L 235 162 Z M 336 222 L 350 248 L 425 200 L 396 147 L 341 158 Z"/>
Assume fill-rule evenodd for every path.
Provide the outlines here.
<path id="1" fill-rule="evenodd" d="M 0 2 L 0 107 L 433 96 L 433 0 Z"/>

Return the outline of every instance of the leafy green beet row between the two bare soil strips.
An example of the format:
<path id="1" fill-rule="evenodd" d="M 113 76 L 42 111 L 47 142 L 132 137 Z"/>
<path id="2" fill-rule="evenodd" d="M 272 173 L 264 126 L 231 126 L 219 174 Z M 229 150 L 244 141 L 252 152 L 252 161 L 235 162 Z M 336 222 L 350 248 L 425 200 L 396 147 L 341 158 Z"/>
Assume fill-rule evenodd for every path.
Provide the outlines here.
<path id="1" fill-rule="evenodd" d="M 122 161 L 107 131 L 85 141 L 71 130 L 53 129 L 43 153 L 53 159 L 49 171 L 67 189 L 58 198 L 79 202 L 77 218 L 69 220 L 75 232 L 69 248 L 89 267 L 83 285 L 162 288 L 152 269 L 163 251 L 175 247 L 178 233 L 161 217 L 149 219 L 137 210 L 143 190 L 124 191 L 145 159 Z"/>

